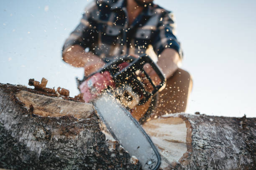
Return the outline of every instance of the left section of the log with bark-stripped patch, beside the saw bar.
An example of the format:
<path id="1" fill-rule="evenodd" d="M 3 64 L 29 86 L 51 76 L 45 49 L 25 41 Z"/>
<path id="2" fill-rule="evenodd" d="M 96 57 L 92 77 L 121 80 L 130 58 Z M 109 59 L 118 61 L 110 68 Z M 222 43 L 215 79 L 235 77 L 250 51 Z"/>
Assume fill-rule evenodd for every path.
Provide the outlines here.
<path id="1" fill-rule="evenodd" d="M 46 94 L 0 84 L 0 168 L 139 169 L 106 140 L 92 105 Z"/>

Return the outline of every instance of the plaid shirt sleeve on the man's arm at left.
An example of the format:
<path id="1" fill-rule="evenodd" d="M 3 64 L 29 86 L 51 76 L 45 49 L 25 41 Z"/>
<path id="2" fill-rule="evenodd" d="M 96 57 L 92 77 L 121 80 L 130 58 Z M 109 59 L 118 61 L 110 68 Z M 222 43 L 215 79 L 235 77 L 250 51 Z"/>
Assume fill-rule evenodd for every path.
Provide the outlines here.
<path id="1" fill-rule="evenodd" d="M 93 10 L 97 10 L 96 3 L 88 5 L 82 15 L 80 23 L 77 25 L 77 28 L 71 32 L 69 37 L 64 42 L 62 47 L 62 52 L 66 51 L 72 45 L 81 45 L 82 47 L 92 47 L 93 42 L 96 39 L 96 23 L 95 20 L 92 20 L 91 13 Z"/>

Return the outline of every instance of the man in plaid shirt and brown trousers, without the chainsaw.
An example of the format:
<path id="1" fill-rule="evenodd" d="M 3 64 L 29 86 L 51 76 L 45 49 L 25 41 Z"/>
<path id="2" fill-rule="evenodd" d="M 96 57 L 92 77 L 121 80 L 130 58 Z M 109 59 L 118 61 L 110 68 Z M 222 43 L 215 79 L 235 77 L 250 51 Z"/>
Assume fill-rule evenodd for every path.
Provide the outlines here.
<path id="1" fill-rule="evenodd" d="M 174 16 L 153 0 L 94 0 L 85 8 L 62 50 L 63 60 L 84 67 L 85 76 L 122 55 L 155 57 L 167 82 L 151 117 L 186 110 L 192 78 L 178 67 L 183 55 L 175 35 Z M 154 71 L 149 75 L 157 81 Z M 148 107 L 150 102 L 145 105 Z M 139 120 L 140 111 L 133 116 Z"/>

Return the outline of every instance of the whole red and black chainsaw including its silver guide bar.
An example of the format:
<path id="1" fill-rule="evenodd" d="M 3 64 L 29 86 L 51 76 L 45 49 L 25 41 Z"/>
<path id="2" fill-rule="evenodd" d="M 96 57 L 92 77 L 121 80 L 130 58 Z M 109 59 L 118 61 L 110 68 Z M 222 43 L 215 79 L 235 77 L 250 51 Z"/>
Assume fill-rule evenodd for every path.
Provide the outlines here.
<path id="1" fill-rule="evenodd" d="M 151 80 L 146 67 L 151 67 L 160 82 Z M 156 170 L 160 155 L 132 110 L 144 105 L 165 86 L 165 77 L 148 55 L 137 59 L 123 56 L 108 62 L 102 69 L 83 80 L 77 80 L 85 102 L 91 102 L 112 136 L 136 156 L 143 170 Z"/>

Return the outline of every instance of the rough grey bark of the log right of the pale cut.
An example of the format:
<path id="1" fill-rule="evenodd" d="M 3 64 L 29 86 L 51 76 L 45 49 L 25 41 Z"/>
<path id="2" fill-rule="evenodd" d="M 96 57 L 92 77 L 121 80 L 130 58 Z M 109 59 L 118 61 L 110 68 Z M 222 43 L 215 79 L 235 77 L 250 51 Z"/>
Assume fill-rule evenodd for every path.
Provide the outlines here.
<path id="1" fill-rule="evenodd" d="M 256 169 L 256 118 L 186 114 L 179 117 L 187 125 L 188 152 L 175 169 Z"/>

